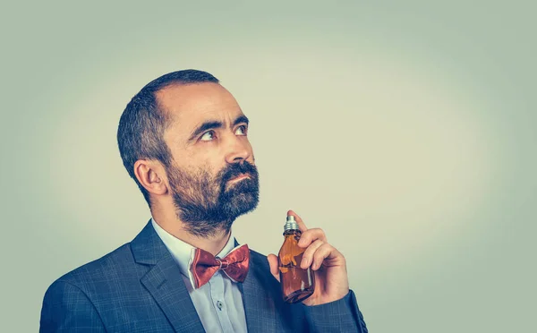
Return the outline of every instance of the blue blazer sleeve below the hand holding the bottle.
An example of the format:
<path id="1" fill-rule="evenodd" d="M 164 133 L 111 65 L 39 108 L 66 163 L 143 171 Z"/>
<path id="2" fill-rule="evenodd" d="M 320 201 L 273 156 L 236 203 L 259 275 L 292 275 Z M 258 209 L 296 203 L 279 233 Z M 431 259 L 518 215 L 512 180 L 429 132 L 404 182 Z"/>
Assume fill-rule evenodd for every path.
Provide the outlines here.
<path id="1" fill-rule="evenodd" d="M 352 290 L 340 300 L 303 307 L 311 332 L 368 333 Z"/>

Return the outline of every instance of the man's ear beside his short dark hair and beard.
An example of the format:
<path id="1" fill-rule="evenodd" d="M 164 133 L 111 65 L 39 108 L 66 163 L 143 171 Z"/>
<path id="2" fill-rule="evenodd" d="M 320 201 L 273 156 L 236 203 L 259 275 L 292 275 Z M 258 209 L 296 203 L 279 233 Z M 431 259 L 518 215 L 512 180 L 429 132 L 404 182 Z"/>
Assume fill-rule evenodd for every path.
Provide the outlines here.
<path id="1" fill-rule="evenodd" d="M 158 161 L 139 159 L 134 163 L 134 175 L 138 182 L 151 194 L 164 195 L 168 192 L 164 166 Z"/>

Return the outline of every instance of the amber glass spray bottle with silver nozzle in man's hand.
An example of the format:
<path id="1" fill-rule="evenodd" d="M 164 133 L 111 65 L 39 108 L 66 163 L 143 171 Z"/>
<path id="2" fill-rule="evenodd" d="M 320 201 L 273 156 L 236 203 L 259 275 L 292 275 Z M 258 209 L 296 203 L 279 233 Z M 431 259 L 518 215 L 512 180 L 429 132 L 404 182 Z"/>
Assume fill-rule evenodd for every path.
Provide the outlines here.
<path id="1" fill-rule="evenodd" d="M 284 302 L 298 303 L 310 297 L 315 291 L 315 275 L 313 271 L 302 269 L 300 263 L 303 259 L 305 248 L 298 246 L 298 240 L 302 232 L 294 220 L 294 216 L 288 216 L 284 226 L 285 241 L 277 258 L 280 271 L 280 284 Z"/>

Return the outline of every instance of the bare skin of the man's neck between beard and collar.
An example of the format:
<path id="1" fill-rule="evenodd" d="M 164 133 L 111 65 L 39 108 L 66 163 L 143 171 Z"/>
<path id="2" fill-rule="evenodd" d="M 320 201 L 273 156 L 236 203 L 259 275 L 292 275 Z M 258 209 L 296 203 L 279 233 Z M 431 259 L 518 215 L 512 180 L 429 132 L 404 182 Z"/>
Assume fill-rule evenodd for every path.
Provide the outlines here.
<path id="1" fill-rule="evenodd" d="M 177 218 L 175 211 L 172 209 L 151 208 L 151 216 L 155 222 L 166 230 L 170 235 L 182 240 L 184 243 L 189 243 L 193 247 L 205 250 L 216 256 L 226 246 L 231 231 L 217 229 L 210 235 L 192 235 L 188 231 L 188 226 Z"/>

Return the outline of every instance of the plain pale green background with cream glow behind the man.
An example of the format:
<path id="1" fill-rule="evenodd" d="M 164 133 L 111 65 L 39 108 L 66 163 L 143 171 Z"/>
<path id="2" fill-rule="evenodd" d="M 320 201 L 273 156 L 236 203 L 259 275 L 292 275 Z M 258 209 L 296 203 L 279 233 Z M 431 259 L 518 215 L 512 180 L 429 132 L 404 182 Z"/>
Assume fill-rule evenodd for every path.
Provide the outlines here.
<path id="1" fill-rule="evenodd" d="M 251 118 L 259 209 L 344 252 L 371 332 L 535 332 L 535 5 L 510 1 L 3 5 L 0 330 L 149 210 L 119 158 L 129 99 L 215 74 Z"/>

